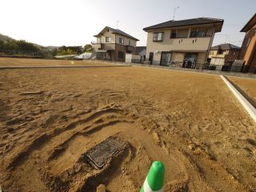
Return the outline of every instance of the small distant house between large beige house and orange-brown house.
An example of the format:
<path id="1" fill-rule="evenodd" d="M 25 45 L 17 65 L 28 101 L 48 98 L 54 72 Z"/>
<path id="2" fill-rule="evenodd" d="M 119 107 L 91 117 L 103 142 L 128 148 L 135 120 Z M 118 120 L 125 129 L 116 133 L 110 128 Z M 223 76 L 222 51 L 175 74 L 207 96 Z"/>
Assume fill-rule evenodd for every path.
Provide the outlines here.
<path id="1" fill-rule="evenodd" d="M 230 43 L 213 46 L 209 54 L 210 64 L 223 66 L 226 63 L 230 65 L 235 59 L 238 59 L 239 52 L 240 47 Z"/>

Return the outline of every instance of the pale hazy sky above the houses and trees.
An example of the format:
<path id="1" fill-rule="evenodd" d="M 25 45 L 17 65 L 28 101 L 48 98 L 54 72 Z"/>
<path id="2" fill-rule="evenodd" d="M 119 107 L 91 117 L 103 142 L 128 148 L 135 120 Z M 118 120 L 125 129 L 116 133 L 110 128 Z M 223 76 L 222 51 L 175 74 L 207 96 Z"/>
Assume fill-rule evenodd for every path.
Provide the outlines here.
<path id="1" fill-rule="evenodd" d="M 104 26 L 118 28 L 140 39 L 142 28 L 159 22 L 186 18 L 222 18 L 222 32 L 214 45 L 230 42 L 241 46 L 239 31 L 256 10 L 255 0 L 0 0 L 0 33 L 42 46 L 84 46 L 95 41 Z"/>

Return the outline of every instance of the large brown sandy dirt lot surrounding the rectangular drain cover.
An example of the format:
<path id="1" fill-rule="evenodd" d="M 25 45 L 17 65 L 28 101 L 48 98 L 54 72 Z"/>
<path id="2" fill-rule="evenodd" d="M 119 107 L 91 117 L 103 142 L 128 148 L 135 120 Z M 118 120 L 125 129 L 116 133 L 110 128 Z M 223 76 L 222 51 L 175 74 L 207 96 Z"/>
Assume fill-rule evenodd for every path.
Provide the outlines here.
<path id="1" fill-rule="evenodd" d="M 154 160 L 165 191 L 256 190 L 256 125 L 218 75 L 0 70 L 0 92 L 4 191 L 135 192 Z M 127 147 L 96 170 L 84 154 L 110 136 Z"/>

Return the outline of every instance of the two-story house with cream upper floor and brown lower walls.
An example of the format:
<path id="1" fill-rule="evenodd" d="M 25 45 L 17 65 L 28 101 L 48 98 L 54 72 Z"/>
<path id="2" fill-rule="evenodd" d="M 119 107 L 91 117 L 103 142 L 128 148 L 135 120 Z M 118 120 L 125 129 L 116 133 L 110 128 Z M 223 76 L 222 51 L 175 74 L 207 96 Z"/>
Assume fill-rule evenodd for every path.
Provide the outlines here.
<path id="1" fill-rule="evenodd" d="M 139 41 L 122 30 L 106 26 L 100 33 L 94 35 L 97 42 L 92 42 L 94 51 L 104 54 L 112 61 L 124 62 L 126 53 L 134 54 L 136 43 Z"/>

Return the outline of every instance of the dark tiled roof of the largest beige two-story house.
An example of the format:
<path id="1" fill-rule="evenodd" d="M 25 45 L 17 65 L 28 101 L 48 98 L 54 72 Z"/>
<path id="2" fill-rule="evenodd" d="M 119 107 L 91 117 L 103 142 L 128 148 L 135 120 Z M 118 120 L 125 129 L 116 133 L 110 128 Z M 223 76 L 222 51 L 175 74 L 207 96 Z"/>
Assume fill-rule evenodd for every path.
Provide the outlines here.
<path id="1" fill-rule="evenodd" d="M 178 27 L 178 26 L 196 26 L 196 25 L 204 25 L 204 24 L 210 24 L 210 23 L 221 23 L 221 25 L 223 25 L 223 22 L 224 20 L 219 18 L 190 18 L 190 19 L 179 20 L 179 21 L 170 20 L 168 22 L 162 22 L 154 26 L 148 26 L 143 30 L 146 31 L 146 30 L 171 28 L 171 27 Z"/>

